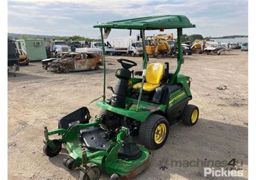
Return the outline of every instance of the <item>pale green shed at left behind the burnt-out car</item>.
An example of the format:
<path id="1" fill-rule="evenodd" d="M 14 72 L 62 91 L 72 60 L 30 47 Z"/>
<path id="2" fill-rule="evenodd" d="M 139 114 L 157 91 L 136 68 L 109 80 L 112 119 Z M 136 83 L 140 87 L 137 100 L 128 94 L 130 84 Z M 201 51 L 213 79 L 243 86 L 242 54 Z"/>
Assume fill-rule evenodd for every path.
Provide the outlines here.
<path id="1" fill-rule="evenodd" d="M 38 45 L 35 42 L 39 42 Z M 29 61 L 46 59 L 45 43 L 42 39 L 16 40 L 18 49 L 22 49 L 29 58 Z"/>

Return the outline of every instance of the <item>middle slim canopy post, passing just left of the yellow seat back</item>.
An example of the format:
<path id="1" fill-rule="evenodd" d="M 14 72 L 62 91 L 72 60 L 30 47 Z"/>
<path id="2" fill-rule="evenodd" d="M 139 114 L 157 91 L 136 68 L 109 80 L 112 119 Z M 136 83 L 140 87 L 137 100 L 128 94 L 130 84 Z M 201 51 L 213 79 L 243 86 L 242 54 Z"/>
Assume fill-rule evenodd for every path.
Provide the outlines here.
<path id="1" fill-rule="evenodd" d="M 140 34 L 142 36 L 142 46 L 143 46 L 143 74 L 142 74 L 142 85 L 139 89 L 139 99 L 137 103 L 137 109 L 139 109 L 139 103 L 140 99 L 142 99 L 142 91 L 143 91 L 143 84 L 145 81 L 145 75 L 146 75 L 146 68 L 147 68 L 147 52 L 146 52 L 146 44 L 145 44 L 145 30 L 140 30 Z"/>

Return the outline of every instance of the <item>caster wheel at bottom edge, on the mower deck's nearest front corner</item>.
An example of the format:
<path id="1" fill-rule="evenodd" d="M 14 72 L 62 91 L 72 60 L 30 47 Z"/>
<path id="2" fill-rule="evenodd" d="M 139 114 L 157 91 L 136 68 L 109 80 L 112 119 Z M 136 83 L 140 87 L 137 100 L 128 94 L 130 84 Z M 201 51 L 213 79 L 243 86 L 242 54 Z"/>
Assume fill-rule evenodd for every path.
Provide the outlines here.
<path id="1" fill-rule="evenodd" d="M 94 163 L 88 163 L 87 166 L 90 169 L 88 171 L 85 170 L 85 172 L 80 170 L 79 180 L 91 180 L 91 179 L 98 180 L 100 177 L 100 169 L 98 165 Z"/>

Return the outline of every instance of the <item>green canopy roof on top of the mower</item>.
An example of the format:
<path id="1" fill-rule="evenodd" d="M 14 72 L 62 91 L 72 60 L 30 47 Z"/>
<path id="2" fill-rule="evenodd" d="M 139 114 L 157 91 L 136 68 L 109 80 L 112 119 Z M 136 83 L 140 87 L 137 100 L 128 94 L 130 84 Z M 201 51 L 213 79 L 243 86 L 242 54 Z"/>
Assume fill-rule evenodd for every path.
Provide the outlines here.
<path id="1" fill-rule="evenodd" d="M 177 29 L 196 27 L 190 20 L 183 15 L 149 16 L 134 19 L 116 20 L 112 22 L 97 24 L 93 27 L 111 28 L 111 29 L 145 29 L 158 30 Z"/>

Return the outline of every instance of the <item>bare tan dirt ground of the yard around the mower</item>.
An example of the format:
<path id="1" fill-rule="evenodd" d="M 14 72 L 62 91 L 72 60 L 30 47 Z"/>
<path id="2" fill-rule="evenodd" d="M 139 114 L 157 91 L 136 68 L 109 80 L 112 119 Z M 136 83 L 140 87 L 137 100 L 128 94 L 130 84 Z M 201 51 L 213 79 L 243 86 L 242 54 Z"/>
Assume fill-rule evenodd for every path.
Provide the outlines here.
<path id="1" fill-rule="evenodd" d="M 106 85 L 114 86 L 114 72 L 120 67 L 117 56 L 106 57 Z M 138 63 L 142 59 L 123 57 Z M 247 179 L 248 164 L 248 53 L 240 50 L 220 56 L 193 54 L 185 56 L 181 67 L 184 75 L 193 78 L 193 100 L 200 110 L 196 126 L 187 127 L 181 122 L 170 127 L 165 146 L 152 151 L 150 167 L 136 179 L 204 179 L 204 168 L 175 166 L 173 161 L 242 161 Z M 176 68 L 176 59 L 150 58 L 150 61 L 170 63 Z M 225 90 L 217 87 L 226 86 Z M 99 108 L 90 101 L 103 92 L 103 68 L 56 74 L 43 70 L 41 62 L 20 68 L 17 77 L 8 73 L 8 176 L 9 179 L 78 179 L 79 170 L 69 171 L 62 164 L 65 149 L 52 158 L 43 154 L 44 125 L 58 127 L 58 120 L 82 106 L 89 108 L 92 117 Z M 111 96 L 106 89 L 107 96 Z M 139 142 L 135 138 L 136 142 Z M 205 160 L 207 159 L 207 160 Z M 159 169 L 165 160 L 167 169 Z M 218 168 L 215 168 L 218 169 Z M 108 179 L 102 174 L 101 179 Z M 209 179 L 209 178 L 207 178 Z M 211 178 L 210 178 L 211 179 Z M 237 178 L 238 179 L 238 178 Z"/>

